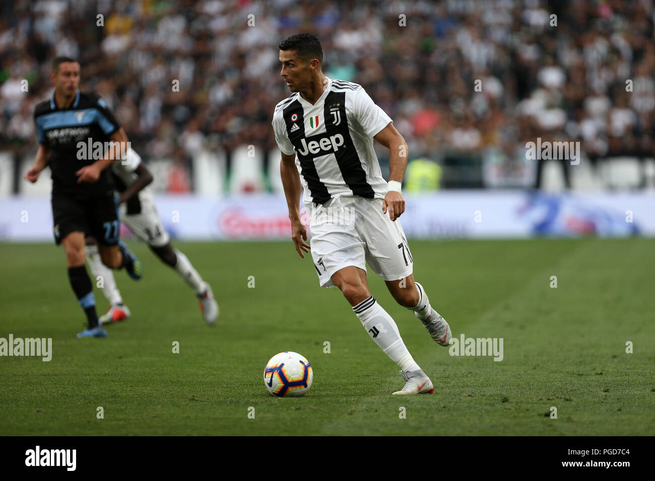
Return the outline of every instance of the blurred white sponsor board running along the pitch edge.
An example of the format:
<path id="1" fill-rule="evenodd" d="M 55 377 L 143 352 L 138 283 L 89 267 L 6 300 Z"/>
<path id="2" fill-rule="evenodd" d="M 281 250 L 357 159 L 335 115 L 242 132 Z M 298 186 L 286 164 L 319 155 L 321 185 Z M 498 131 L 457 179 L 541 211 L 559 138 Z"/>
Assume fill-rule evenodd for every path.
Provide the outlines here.
<path id="1" fill-rule="evenodd" d="M 457 190 L 405 196 L 400 218 L 408 238 L 655 236 L 655 194 L 531 194 Z M 280 194 L 156 196 L 162 223 L 181 240 L 288 240 Z M 301 208 L 301 213 L 304 207 Z M 122 236 L 130 232 L 122 226 Z M 0 201 L 0 241 L 52 240 L 49 198 Z"/>

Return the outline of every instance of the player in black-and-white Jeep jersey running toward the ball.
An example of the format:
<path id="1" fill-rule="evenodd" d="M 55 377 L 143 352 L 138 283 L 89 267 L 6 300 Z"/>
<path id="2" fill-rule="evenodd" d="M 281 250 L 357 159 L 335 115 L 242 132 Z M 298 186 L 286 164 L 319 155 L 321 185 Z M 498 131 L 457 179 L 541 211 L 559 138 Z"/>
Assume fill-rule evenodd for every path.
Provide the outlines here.
<path id="1" fill-rule="evenodd" d="M 280 75 L 292 93 L 276 105 L 272 125 L 282 151 L 280 175 L 295 249 L 303 258 L 311 249 L 321 287 L 339 287 L 373 341 L 398 364 L 405 386 L 393 394 L 432 393 L 430 378 L 366 280 L 368 262 L 396 302 L 421 319 L 435 342 L 449 346 L 449 325 L 414 281 L 413 258 L 398 221 L 405 210 L 400 187 L 407 145 L 362 86 L 323 74 L 323 50 L 314 35 L 293 35 L 279 48 Z M 373 139 L 389 149 L 388 182 Z M 299 213 L 301 189 L 310 213 L 311 246 Z"/>

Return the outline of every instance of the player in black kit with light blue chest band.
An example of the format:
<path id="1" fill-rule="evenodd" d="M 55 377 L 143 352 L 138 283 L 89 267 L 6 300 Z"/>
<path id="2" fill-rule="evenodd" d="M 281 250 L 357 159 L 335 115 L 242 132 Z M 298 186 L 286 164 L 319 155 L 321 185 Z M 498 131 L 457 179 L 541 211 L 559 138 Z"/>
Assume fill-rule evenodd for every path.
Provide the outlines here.
<path id="1" fill-rule="evenodd" d="M 53 233 L 64 246 L 68 279 L 84 310 L 87 327 L 78 338 L 106 337 L 98 323 L 91 279 L 84 266 L 84 237 L 93 235 L 103 264 L 125 268 L 141 278 L 141 263 L 119 242 L 119 213 L 114 186 L 107 168 L 126 151 L 127 136 L 102 98 L 79 91 L 80 64 L 68 57 L 52 62 L 50 80 L 54 93 L 34 109 L 39 150 L 25 174 L 34 183 L 47 166 L 52 173 Z M 109 143 L 98 156 L 85 154 L 79 144 Z M 88 152 L 87 152 L 88 153 Z"/>

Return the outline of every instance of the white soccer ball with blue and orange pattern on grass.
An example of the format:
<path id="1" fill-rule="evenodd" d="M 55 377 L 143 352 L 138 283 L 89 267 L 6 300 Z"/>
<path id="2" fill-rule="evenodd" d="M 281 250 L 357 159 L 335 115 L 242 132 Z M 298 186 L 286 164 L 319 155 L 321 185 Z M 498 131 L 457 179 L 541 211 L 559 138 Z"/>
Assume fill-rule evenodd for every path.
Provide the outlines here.
<path id="1" fill-rule="evenodd" d="M 314 372 L 297 352 L 284 351 L 271 357 L 264 369 L 264 384 L 274 396 L 301 397 L 312 387 Z"/>

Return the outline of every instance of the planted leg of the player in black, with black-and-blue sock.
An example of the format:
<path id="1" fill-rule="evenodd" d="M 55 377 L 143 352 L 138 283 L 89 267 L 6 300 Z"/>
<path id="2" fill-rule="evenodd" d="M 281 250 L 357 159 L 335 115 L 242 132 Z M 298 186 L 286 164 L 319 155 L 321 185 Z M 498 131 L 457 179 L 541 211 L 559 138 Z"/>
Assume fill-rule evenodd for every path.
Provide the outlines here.
<path id="1" fill-rule="evenodd" d="M 86 314 L 88 323 L 86 329 L 77 334 L 77 337 L 106 337 L 107 332 L 98 323 L 93 286 L 84 265 L 84 232 L 75 231 L 65 234 L 62 246 L 68 264 L 68 280 L 77 296 L 77 302 Z"/>

